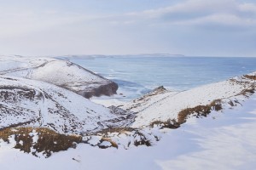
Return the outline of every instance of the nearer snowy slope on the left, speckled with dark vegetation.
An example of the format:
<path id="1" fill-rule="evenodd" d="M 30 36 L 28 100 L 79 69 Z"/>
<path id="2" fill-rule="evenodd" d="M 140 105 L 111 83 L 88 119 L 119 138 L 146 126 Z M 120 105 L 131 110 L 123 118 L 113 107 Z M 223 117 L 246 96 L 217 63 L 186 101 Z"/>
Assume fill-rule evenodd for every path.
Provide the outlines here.
<path id="1" fill-rule="evenodd" d="M 47 82 L 0 76 L 0 95 L 0 128 L 49 127 L 59 133 L 84 133 L 133 121 L 132 116 L 114 114 Z"/>

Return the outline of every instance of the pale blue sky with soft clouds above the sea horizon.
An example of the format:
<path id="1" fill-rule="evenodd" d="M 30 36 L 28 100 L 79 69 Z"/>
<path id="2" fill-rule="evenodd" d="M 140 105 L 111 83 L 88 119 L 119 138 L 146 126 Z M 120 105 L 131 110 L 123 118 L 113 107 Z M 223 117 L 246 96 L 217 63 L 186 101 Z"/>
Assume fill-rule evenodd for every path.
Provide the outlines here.
<path id="1" fill-rule="evenodd" d="M 256 0 L 0 0 L 0 54 L 256 57 Z"/>

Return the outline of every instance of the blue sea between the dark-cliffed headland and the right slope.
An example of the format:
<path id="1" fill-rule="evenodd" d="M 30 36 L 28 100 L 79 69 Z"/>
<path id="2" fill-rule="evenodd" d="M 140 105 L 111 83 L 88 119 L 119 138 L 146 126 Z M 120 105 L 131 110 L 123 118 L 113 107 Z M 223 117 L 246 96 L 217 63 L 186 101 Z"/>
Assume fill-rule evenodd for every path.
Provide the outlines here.
<path id="1" fill-rule="evenodd" d="M 111 99 L 119 100 L 135 99 L 159 86 L 181 91 L 256 71 L 256 58 L 127 55 L 67 59 L 118 83 L 118 94 Z"/>

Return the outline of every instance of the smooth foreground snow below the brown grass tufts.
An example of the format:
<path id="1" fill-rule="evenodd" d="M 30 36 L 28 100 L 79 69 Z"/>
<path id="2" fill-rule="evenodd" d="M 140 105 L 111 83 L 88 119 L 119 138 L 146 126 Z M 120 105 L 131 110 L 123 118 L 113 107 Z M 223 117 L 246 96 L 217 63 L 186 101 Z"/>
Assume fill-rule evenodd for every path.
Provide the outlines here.
<path id="1" fill-rule="evenodd" d="M 256 95 L 233 109 L 163 129 L 152 147 L 76 149 L 37 158 L 1 143 L 1 169 L 255 169 Z"/>

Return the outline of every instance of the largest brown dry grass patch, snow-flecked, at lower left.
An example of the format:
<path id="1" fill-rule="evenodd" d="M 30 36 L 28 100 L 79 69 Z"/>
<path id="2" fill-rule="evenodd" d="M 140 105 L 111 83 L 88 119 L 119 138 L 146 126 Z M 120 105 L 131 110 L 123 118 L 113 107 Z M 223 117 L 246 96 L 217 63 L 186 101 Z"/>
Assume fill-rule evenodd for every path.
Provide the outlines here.
<path id="1" fill-rule="evenodd" d="M 30 135 L 33 130 L 38 133 L 38 141 L 35 144 L 32 143 L 32 135 Z M 36 152 L 43 152 L 46 157 L 49 157 L 51 152 L 75 147 L 75 143 L 79 144 L 82 141 L 81 136 L 55 133 L 55 131 L 44 127 L 17 127 L 6 128 L 0 131 L 0 139 L 3 139 L 5 142 L 9 142 L 9 136 L 11 135 L 15 135 L 16 149 L 27 153 L 32 152 L 32 149 L 34 149 L 36 151 L 32 152 L 33 155 L 36 156 Z"/>

